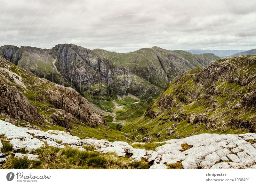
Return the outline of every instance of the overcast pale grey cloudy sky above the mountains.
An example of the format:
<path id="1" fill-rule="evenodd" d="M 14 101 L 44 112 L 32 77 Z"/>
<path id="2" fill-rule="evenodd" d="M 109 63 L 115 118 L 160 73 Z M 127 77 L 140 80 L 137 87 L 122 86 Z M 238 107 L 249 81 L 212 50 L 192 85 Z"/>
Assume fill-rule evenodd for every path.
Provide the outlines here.
<path id="1" fill-rule="evenodd" d="M 256 48 L 255 0 L 0 0 L 0 45 Z"/>

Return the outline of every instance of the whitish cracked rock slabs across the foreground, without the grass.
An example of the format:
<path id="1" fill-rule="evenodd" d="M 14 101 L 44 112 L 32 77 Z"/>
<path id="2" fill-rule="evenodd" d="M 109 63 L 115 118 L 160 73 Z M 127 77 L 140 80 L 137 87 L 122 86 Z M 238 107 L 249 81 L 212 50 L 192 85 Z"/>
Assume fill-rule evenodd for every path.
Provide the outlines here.
<path id="1" fill-rule="evenodd" d="M 157 147 L 156 151 L 136 149 L 121 141 L 80 139 L 64 131 L 43 132 L 16 127 L 2 120 L 0 134 L 5 134 L 6 139 L 13 144 L 14 150 L 25 147 L 32 151 L 45 145 L 60 148 L 71 146 L 85 150 L 83 146 L 90 145 L 103 154 L 115 152 L 119 157 L 145 159 L 152 164 L 150 169 L 166 169 L 166 164 L 177 162 L 181 162 L 184 169 L 256 169 L 256 134 L 253 133 L 200 134 L 183 139 L 171 139 Z M 15 154 L 16 157 L 24 155 L 26 154 Z M 37 158 L 35 155 L 27 157 Z"/>

